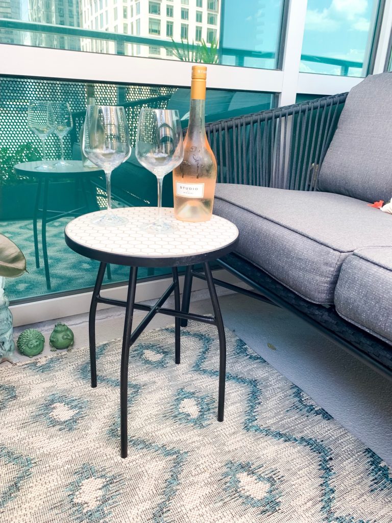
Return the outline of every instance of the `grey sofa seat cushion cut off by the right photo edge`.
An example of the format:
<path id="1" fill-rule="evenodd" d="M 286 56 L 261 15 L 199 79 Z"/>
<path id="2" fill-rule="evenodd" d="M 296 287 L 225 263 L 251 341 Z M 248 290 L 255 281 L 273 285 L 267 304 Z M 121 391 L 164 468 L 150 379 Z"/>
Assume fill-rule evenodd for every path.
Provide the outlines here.
<path id="1" fill-rule="evenodd" d="M 392 247 L 368 247 L 340 270 L 335 306 L 345 320 L 392 343 Z"/>

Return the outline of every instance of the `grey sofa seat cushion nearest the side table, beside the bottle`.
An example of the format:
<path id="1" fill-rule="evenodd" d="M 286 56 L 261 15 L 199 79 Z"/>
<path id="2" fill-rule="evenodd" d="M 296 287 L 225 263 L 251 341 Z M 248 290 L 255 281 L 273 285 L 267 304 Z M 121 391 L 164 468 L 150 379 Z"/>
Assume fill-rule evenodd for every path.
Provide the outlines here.
<path id="1" fill-rule="evenodd" d="M 214 213 L 237 225 L 238 254 L 314 303 L 333 303 L 355 249 L 390 245 L 390 214 L 329 192 L 217 184 Z"/>

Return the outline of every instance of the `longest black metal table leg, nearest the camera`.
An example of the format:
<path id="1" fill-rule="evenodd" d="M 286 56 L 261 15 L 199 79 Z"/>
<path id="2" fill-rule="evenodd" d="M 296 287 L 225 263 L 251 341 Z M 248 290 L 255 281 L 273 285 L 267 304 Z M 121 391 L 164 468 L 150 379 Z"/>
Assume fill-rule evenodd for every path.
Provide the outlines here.
<path id="1" fill-rule="evenodd" d="M 133 309 L 135 304 L 137 267 L 132 267 L 129 275 L 128 295 L 126 297 L 124 334 L 121 351 L 120 373 L 120 439 L 121 457 L 128 456 L 128 362 L 132 335 Z"/>

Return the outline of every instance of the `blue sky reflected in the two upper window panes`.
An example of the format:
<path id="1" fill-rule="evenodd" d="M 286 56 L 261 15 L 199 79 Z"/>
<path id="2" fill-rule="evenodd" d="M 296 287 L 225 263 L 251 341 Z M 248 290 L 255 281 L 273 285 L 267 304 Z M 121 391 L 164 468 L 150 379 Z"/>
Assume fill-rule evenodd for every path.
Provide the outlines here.
<path id="1" fill-rule="evenodd" d="M 362 62 L 376 0 L 308 0 L 303 53 Z M 240 5 L 240 9 L 239 9 Z M 224 46 L 274 51 L 280 0 L 225 1 Z M 307 72 L 339 74 L 335 65 L 302 64 Z M 360 74 L 359 70 L 350 73 Z"/>

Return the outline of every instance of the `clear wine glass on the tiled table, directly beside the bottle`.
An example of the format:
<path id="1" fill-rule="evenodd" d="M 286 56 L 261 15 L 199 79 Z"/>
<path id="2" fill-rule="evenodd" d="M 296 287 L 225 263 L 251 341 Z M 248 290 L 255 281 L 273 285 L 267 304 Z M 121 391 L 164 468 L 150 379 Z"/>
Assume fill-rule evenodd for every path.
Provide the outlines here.
<path id="1" fill-rule="evenodd" d="M 158 183 L 156 220 L 147 230 L 170 233 L 174 226 L 162 218 L 162 184 L 164 177 L 183 160 L 181 122 L 178 111 L 143 108 L 140 111 L 136 136 L 136 158 L 155 174 Z"/>

